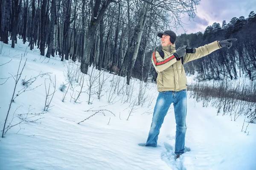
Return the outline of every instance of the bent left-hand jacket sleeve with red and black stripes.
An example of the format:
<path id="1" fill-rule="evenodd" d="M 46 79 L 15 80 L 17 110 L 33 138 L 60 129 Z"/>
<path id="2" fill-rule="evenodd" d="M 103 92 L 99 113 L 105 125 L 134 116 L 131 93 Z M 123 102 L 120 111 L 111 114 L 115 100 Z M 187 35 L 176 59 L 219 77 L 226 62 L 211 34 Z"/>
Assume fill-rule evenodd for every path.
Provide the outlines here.
<path id="1" fill-rule="evenodd" d="M 151 61 L 154 65 L 154 68 L 157 72 L 164 71 L 166 68 L 169 68 L 175 62 L 177 62 L 174 55 L 171 55 L 165 59 L 163 59 L 157 51 L 154 51 L 152 54 Z"/>

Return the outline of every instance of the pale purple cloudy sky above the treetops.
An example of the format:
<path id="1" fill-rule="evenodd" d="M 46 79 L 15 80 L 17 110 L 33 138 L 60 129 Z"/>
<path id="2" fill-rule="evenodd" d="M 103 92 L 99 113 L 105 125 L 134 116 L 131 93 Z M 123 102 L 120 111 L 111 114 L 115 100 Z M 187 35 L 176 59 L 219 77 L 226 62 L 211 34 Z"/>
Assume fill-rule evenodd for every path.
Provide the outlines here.
<path id="1" fill-rule="evenodd" d="M 233 17 L 248 17 L 250 11 L 256 12 L 256 0 L 201 0 L 197 6 L 196 17 L 188 20 L 188 16 L 182 18 L 183 28 L 187 34 L 201 31 L 204 33 L 207 26 L 226 20 L 227 23 Z M 184 34 L 183 28 L 178 28 L 177 34 Z"/>

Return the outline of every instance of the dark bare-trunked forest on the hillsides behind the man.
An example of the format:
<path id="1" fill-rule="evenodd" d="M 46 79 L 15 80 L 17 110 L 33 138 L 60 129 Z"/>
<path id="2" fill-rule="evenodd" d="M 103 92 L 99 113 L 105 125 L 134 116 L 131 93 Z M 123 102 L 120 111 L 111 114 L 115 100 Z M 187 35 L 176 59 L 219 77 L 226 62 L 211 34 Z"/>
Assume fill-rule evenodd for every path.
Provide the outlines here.
<path id="1" fill-rule="evenodd" d="M 17 38 L 39 48 L 41 55 L 81 62 L 88 67 L 144 80 L 151 79 L 151 54 L 160 45 L 157 32 L 182 26 L 181 14 L 195 17 L 200 0 L 0 0 L 0 41 L 15 48 Z M 215 40 L 237 38 L 230 49 L 184 65 L 199 80 L 256 76 L 256 14 L 213 23 L 204 33 L 181 34 L 181 45 L 199 47 Z"/>

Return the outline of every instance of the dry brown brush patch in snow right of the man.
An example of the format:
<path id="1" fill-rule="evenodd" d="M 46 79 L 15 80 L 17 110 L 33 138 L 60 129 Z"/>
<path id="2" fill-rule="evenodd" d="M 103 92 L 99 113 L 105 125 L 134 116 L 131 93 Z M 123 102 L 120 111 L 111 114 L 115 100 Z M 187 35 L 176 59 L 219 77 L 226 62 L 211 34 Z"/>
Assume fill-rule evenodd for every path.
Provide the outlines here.
<path id="1" fill-rule="evenodd" d="M 236 121 L 241 115 L 249 115 L 250 106 L 255 105 L 256 84 L 254 82 L 254 84 L 251 83 L 248 86 L 244 80 L 242 84 L 233 85 L 232 83 L 227 79 L 222 82 L 213 82 L 212 84 L 196 82 L 189 85 L 190 97 L 195 98 L 197 102 L 202 100 L 203 106 L 207 106 L 211 102 L 211 105 L 217 108 L 217 115 L 222 112 L 223 116 L 230 115 L 231 119 L 232 115 L 234 115 L 233 120 Z M 252 123 L 254 122 L 256 122 L 255 119 L 253 119 Z"/>

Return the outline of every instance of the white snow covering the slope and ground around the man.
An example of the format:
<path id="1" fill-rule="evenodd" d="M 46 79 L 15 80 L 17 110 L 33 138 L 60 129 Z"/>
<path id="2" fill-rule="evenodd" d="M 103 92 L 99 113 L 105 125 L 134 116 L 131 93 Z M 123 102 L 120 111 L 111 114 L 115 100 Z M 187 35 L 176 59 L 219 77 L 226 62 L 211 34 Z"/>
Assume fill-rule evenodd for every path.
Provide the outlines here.
<path id="1" fill-rule="evenodd" d="M 186 152 L 175 160 L 176 125 L 173 105 L 160 129 L 158 147 L 138 145 L 146 141 L 151 125 L 157 97 L 155 84 L 148 83 L 145 94 L 148 96 L 143 106 L 133 104 L 139 93 L 140 82 L 137 79 L 132 79 L 134 91 L 128 102 L 125 102 L 127 95 L 124 92 L 113 94 L 109 104 L 111 82 L 113 78 L 117 80 L 117 76 L 113 74 L 109 75 L 100 100 L 97 99 L 97 94 L 93 94 L 90 99 L 92 104 L 88 105 L 89 95 L 82 93 L 79 102 L 75 103 L 71 95 L 73 91 L 78 95 L 81 89 L 78 82 L 74 83 L 74 90 L 68 89 L 66 99 L 62 102 L 65 92 L 60 91 L 59 87 L 63 82 L 68 83 L 67 66 L 73 67 L 75 64 L 61 62 L 58 56 L 50 59 L 40 56 L 39 49 L 30 51 L 27 45 L 23 45 L 21 40 L 18 40 L 15 49 L 3 44 L 0 78 L 11 78 L 7 81 L 0 79 L 0 84 L 6 81 L 0 85 L 0 129 L 3 130 L 12 99 L 15 87 L 12 76 L 17 74 L 21 55 L 20 71 L 26 59 L 27 61 L 15 94 L 24 87 L 21 82 L 25 77 L 28 79 L 39 74 L 49 74 L 38 77 L 28 89 L 41 86 L 17 96 L 11 105 L 6 126 L 11 121 L 12 125 L 20 122 L 18 114 L 28 113 L 29 109 L 29 113 L 44 112 L 45 82 L 47 88 L 50 84 L 52 93 L 54 77 L 56 92 L 50 104 L 52 107 L 41 116 L 29 120 L 42 119 L 36 123 L 14 126 L 4 138 L 0 138 L 0 170 L 255 170 L 256 125 L 248 126 L 248 135 L 241 132 L 244 116 L 240 116 L 235 122 L 230 121 L 229 116 L 217 116 L 215 108 L 203 108 L 201 102 L 188 98 Z M 6 62 L 9 63 L 2 65 Z M 84 77 L 89 79 L 88 75 Z M 188 79 L 193 81 L 193 77 Z M 121 77 L 120 86 L 125 84 L 123 82 L 125 78 Z M 85 82 L 83 91 L 87 89 Z M 93 90 L 96 89 L 95 86 Z M 123 89 L 125 91 L 126 84 Z M 153 101 L 150 105 L 151 97 Z M 105 111 L 104 114 L 96 113 L 81 122 L 95 113 L 88 110 L 108 110 L 115 116 Z M 81 123 L 78 124 L 79 122 Z M 247 125 L 245 122 L 244 129 Z"/>

